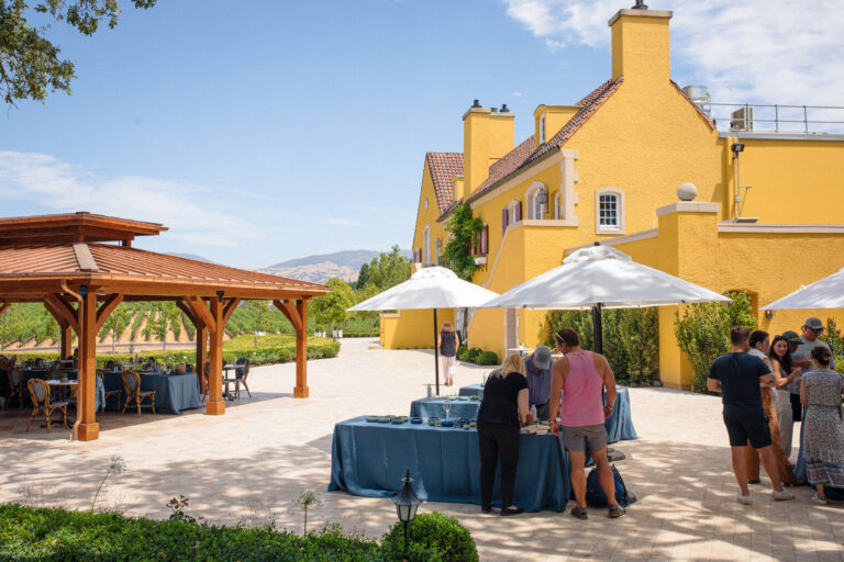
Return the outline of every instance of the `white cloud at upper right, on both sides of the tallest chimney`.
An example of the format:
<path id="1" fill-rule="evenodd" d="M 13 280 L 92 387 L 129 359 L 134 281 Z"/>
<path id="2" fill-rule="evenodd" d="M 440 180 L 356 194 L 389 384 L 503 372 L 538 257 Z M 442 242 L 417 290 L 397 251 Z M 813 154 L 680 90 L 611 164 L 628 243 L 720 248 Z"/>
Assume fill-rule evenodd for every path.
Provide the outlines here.
<path id="1" fill-rule="evenodd" d="M 646 3 L 674 11 L 671 74 L 681 86 L 706 85 L 717 102 L 844 105 L 844 10 L 837 0 Z M 619 8 L 618 0 L 507 0 L 507 14 L 552 50 L 558 42 L 607 49 L 607 22 Z"/>

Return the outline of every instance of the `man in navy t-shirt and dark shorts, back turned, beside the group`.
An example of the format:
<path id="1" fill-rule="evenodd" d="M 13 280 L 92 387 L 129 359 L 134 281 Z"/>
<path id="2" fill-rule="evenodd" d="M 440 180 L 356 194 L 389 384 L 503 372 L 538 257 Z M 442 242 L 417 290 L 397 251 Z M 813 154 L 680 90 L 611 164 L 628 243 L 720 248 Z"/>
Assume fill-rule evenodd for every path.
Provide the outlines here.
<path id="1" fill-rule="evenodd" d="M 793 499 L 793 494 L 787 492 L 780 482 L 774 449 L 770 447 L 768 419 L 762 408 L 759 383 L 774 382 L 774 375 L 762 359 L 747 353 L 749 337 L 751 330 L 743 326 L 730 330 L 732 349 L 712 362 L 707 381 L 707 387 L 711 392 L 721 393 L 724 404 L 724 425 L 733 453 L 733 472 L 741 488 L 736 499 L 744 505 L 753 504 L 751 492 L 747 490 L 745 464 L 748 440 L 762 456 L 765 472 L 768 473 L 774 487 L 771 497 Z"/>

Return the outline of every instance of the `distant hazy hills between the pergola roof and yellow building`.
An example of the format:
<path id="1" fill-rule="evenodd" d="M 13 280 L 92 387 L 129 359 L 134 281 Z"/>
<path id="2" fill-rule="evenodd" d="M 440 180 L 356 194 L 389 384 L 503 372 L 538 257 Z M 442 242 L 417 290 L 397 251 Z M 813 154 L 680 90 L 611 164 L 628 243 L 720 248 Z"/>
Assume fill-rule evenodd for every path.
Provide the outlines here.
<path id="1" fill-rule="evenodd" d="M 258 271 L 300 281 L 310 281 L 311 283 L 324 283 L 331 278 L 340 278 L 353 283 L 357 281 L 360 266 L 369 263 L 373 261 L 373 258 L 377 258 L 381 254 L 381 251 L 375 250 L 344 250 L 335 251 L 334 254 L 319 254 L 289 259 Z M 400 254 L 407 258 L 413 256 L 410 250 L 401 250 Z"/>

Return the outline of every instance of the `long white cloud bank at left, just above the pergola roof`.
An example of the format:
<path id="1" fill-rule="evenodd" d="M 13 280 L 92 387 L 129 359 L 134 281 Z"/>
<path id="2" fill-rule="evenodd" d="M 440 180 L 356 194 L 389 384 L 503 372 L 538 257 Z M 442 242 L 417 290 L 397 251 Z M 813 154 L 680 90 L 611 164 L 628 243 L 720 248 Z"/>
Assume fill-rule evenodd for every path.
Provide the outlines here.
<path id="1" fill-rule="evenodd" d="M 89 211 L 162 223 L 169 227 L 169 238 L 189 245 L 232 247 L 255 237 L 248 223 L 231 211 L 225 193 L 158 178 L 102 178 L 38 153 L 0 150 L 0 196 L 36 212 Z"/>

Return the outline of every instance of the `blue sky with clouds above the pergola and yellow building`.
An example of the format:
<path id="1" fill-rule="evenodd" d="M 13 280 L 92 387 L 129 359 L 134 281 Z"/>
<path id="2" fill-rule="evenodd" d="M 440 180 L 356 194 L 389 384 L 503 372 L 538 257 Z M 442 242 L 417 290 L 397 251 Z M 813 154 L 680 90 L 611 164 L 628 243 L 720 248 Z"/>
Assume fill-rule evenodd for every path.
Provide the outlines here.
<path id="1" fill-rule="evenodd" d="M 607 20 L 631 3 L 159 0 L 145 12 L 126 8 L 118 27 L 90 38 L 56 27 L 52 37 L 76 64 L 74 94 L 0 114 L 2 214 L 162 222 L 170 231 L 138 246 L 245 268 L 409 248 L 424 153 L 462 149 L 471 100 L 507 103 L 517 142 L 526 137 L 537 104 L 574 103 L 609 78 Z M 768 68 L 797 72 L 774 101 L 831 103 L 811 76 L 841 69 L 833 3 L 819 2 L 829 18 L 795 34 L 786 59 L 782 35 L 765 31 L 776 25 L 737 34 L 731 25 L 748 14 L 729 2 L 649 3 L 675 10 L 681 85 L 768 101 L 758 83 Z M 778 3 L 748 2 L 759 13 Z M 793 20 L 777 21 L 800 25 Z M 701 21 L 720 23 L 701 33 Z M 736 35 L 752 42 L 755 60 L 726 55 L 741 46 Z"/>

